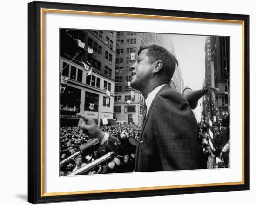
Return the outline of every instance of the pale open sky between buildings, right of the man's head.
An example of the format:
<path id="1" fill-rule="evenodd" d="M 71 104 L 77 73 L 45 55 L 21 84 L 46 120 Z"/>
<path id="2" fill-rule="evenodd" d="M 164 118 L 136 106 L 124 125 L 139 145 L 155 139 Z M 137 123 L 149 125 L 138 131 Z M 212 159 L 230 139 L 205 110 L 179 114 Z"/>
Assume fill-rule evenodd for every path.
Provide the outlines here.
<path id="1" fill-rule="evenodd" d="M 197 35 L 171 35 L 179 62 L 184 87 L 192 90 L 202 89 L 205 77 L 205 38 Z M 197 121 L 201 119 L 201 99 L 193 110 Z"/>

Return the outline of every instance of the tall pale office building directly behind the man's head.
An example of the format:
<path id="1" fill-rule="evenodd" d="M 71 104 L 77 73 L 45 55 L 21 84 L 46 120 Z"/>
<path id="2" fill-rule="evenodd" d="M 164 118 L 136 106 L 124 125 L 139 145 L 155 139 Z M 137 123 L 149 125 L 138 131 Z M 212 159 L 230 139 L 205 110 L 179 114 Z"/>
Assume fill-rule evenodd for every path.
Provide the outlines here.
<path id="1" fill-rule="evenodd" d="M 158 44 L 175 54 L 169 34 L 117 32 L 115 67 L 114 119 L 141 124 L 144 118 L 145 99 L 138 90 L 129 86 L 130 66 L 136 62 L 140 46 Z M 170 85 L 182 93 L 183 79 L 179 66 L 176 68 Z"/>

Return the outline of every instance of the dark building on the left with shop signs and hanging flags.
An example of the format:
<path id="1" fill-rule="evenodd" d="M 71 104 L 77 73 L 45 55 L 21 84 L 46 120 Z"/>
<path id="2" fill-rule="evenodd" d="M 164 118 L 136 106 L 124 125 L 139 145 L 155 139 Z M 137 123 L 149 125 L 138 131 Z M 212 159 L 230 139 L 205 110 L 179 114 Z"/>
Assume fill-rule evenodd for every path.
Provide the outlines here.
<path id="1" fill-rule="evenodd" d="M 61 126 L 77 126 L 76 113 L 113 121 L 116 32 L 60 30 L 60 76 L 68 77 L 60 93 Z M 107 92 L 109 91 L 110 94 Z"/>

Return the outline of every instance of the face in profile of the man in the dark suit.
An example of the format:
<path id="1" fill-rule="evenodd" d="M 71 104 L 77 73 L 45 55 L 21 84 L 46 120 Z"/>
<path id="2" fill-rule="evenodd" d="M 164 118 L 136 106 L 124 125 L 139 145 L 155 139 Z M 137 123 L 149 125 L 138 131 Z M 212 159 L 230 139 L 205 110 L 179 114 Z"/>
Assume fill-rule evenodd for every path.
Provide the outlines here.
<path id="1" fill-rule="evenodd" d="M 148 86 L 150 79 L 153 76 L 153 65 L 147 55 L 148 49 L 141 51 L 137 62 L 130 68 L 132 73 L 131 86 L 136 90 L 141 90 Z"/>

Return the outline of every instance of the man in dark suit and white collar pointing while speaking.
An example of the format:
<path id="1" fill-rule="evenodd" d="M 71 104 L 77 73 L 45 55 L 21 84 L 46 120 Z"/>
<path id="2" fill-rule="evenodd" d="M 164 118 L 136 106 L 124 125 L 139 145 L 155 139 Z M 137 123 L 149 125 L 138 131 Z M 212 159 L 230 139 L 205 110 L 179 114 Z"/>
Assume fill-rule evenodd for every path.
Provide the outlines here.
<path id="1" fill-rule="evenodd" d="M 147 114 L 138 140 L 135 172 L 188 170 L 203 168 L 202 152 L 195 116 L 188 102 L 169 83 L 177 60 L 158 45 L 143 46 L 131 66 L 131 86 L 146 99 Z M 106 136 L 82 115 L 89 136 L 100 141 Z"/>

